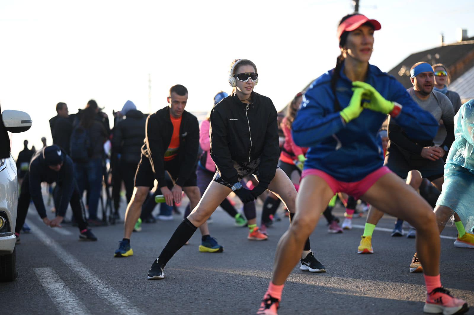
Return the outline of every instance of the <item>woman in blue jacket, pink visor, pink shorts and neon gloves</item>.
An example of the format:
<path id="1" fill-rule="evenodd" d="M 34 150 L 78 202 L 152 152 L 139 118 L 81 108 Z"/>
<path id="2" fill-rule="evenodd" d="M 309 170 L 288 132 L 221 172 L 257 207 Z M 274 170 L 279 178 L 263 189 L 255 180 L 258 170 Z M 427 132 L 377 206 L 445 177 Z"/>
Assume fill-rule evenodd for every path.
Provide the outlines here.
<path id="1" fill-rule="evenodd" d="M 342 18 L 337 28 L 341 55 L 336 68 L 316 79 L 293 122 L 293 139 L 310 147 L 297 196 L 296 215 L 275 254 L 273 276 L 257 314 L 276 314 L 283 284 L 304 241 L 337 192 L 345 192 L 401 217 L 417 228 L 417 250 L 424 267 L 428 313 L 461 314 L 467 304 L 449 295 L 439 278 L 440 242 L 432 208 L 415 190 L 383 166 L 377 132 L 390 114 L 416 139 L 432 139 L 438 122 L 419 108 L 392 76 L 369 64 L 374 30 L 381 25 L 364 15 Z M 315 193 L 317 192 L 317 193 Z"/>

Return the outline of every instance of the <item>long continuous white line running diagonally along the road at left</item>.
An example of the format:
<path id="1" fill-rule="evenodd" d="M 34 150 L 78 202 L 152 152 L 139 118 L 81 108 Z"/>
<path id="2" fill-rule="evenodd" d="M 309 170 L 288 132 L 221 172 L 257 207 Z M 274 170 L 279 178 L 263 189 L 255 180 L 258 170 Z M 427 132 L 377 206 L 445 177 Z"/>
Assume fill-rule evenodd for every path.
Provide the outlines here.
<path id="1" fill-rule="evenodd" d="M 55 252 L 64 263 L 73 270 L 81 279 L 86 281 L 95 293 L 104 299 L 109 306 L 114 308 L 119 314 L 124 315 L 142 315 L 143 313 L 138 307 L 134 306 L 126 297 L 118 293 L 115 288 L 112 288 L 107 283 L 102 281 L 91 270 L 89 270 L 82 262 L 74 258 L 73 255 L 66 252 L 61 245 L 55 240 L 41 231 L 35 224 L 27 220 L 33 234 L 38 236 L 38 239 L 46 245 L 49 249 Z M 145 279 L 145 277 L 143 278 Z"/>

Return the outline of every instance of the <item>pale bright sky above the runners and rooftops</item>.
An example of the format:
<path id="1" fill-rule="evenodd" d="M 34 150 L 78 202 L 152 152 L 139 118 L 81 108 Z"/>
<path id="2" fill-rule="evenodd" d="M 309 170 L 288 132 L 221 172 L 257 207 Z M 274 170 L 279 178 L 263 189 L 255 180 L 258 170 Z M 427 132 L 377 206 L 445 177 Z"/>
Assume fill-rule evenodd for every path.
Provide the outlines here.
<path id="1" fill-rule="evenodd" d="M 456 41 L 456 29 L 474 36 L 472 0 L 361 0 L 377 19 L 371 63 L 389 71 L 409 54 Z M 29 145 L 51 144 L 49 118 L 65 102 L 69 112 L 95 99 L 112 109 L 132 100 L 143 112 L 166 105 L 169 88 L 189 90 L 189 111 L 208 111 L 219 90 L 230 92 L 233 59 L 252 60 L 255 91 L 281 109 L 310 81 L 334 67 L 340 18 L 351 0 L 172 0 L 0 2 L 0 103 L 33 119 L 11 135 L 16 158 Z M 148 75 L 151 76 L 151 107 Z M 112 127 L 112 126 L 111 126 Z"/>

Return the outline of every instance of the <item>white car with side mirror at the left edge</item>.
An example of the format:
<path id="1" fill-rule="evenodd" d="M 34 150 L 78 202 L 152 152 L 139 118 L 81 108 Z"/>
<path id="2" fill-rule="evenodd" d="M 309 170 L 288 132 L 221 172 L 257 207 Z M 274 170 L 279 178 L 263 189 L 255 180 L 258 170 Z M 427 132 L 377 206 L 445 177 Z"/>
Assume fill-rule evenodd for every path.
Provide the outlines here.
<path id="1" fill-rule="evenodd" d="M 8 133 L 27 131 L 31 118 L 25 112 L 4 110 L 0 121 L 0 281 L 17 278 L 15 256 L 15 224 L 17 222 L 18 178 L 17 165 L 9 153 Z"/>

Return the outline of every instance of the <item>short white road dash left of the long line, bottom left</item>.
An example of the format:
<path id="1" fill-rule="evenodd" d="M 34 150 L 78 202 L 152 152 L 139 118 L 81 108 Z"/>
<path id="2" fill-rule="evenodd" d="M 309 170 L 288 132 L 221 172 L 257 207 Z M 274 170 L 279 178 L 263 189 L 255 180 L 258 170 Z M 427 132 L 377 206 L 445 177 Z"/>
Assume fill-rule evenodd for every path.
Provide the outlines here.
<path id="1" fill-rule="evenodd" d="M 89 315 L 85 305 L 76 297 L 52 268 L 34 268 L 36 277 L 62 315 Z"/>

